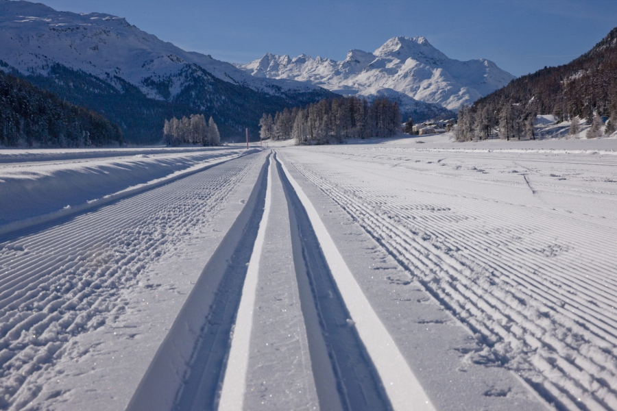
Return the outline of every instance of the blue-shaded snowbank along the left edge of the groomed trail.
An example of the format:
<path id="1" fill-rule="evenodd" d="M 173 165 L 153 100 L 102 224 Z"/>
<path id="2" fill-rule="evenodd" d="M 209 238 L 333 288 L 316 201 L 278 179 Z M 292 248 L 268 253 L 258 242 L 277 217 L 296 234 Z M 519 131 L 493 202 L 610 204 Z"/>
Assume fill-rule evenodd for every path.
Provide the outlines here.
<path id="1" fill-rule="evenodd" d="M 91 155 L 89 151 L 74 154 L 80 153 Z M 61 153 L 49 154 L 53 158 Z M 142 153 L 0 165 L 0 234 L 83 212 L 243 154 L 240 150 L 208 149 L 152 157 Z"/>

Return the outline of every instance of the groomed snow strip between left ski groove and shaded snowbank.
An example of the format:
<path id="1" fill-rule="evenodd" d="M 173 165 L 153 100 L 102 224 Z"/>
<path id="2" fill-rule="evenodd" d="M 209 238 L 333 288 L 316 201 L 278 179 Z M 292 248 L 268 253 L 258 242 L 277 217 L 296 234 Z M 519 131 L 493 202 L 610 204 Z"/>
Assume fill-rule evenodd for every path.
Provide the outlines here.
<path id="1" fill-rule="evenodd" d="M 1 408 L 125 408 L 262 163 L 239 158 L 4 234 Z"/>

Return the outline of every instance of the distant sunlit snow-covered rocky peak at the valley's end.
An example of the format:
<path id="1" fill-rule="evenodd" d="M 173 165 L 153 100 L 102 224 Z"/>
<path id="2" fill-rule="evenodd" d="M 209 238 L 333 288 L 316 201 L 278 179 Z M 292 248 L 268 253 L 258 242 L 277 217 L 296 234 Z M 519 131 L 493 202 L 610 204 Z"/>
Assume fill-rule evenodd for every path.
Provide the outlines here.
<path id="1" fill-rule="evenodd" d="M 515 78 L 489 60 L 452 60 L 424 37 L 391 38 L 374 53 L 350 50 L 341 62 L 268 53 L 239 67 L 255 77 L 300 80 L 342 95 L 403 95 L 450 110 Z"/>

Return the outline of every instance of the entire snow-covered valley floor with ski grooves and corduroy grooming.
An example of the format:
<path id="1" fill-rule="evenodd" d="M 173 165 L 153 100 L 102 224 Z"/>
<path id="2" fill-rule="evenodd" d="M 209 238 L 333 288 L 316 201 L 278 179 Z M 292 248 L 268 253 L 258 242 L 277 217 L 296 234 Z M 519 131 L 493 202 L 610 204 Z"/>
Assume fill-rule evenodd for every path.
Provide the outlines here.
<path id="1" fill-rule="evenodd" d="M 617 409 L 617 139 L 273 146 L 0 151 L 0 409 Z"/>

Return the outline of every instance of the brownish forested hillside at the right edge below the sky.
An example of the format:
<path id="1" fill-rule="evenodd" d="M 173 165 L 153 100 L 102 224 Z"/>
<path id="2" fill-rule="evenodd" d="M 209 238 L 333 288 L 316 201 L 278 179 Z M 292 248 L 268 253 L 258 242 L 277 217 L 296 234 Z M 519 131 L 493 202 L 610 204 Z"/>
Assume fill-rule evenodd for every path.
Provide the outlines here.
<path id="1" fill-rule="evenodd" d="M 555 114 L 559 121 L 579 117 L 594 122 L 617 120 L 617 28 L 588 53 L 558 67 L 514 79 L 504 88 L 459 110 L 457 138 L 535 138 L 536 114 Z M 597 123 L 597 120 L 596 120 Z M 497 132 L 498 128 L 498 132 Z"/>

